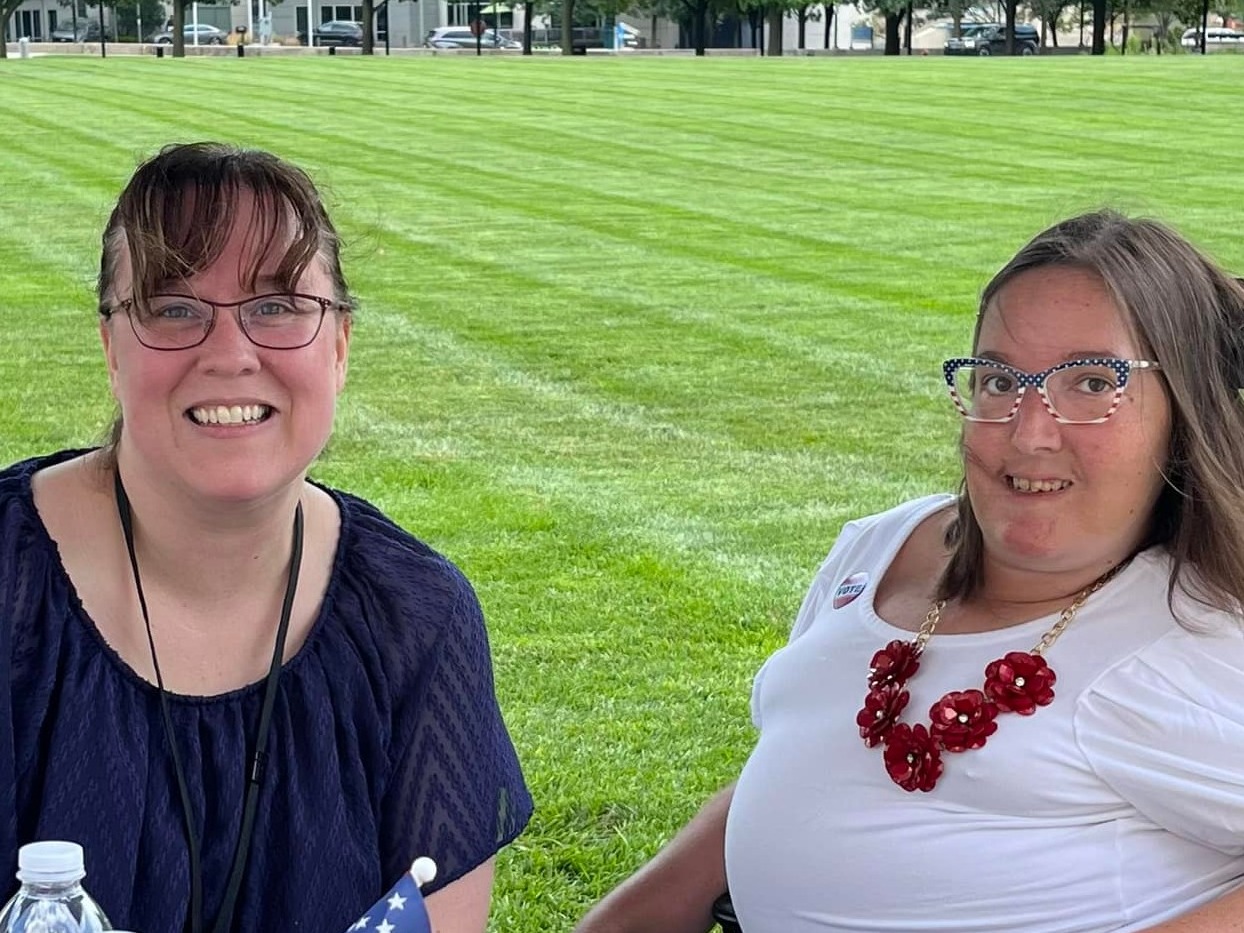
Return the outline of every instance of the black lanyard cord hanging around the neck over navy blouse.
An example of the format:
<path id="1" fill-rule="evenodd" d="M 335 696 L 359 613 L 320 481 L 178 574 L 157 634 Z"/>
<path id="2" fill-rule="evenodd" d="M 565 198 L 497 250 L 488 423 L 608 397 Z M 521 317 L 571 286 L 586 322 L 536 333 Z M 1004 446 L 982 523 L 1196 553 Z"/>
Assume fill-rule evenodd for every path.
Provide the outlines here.
<path id="1" fill-rule="evenodd" d="M 129 552 L 129 569 L 134 575 L 134 590 L 138 592 L 138 606 L 147 626 L 147 644 L 152 652 L 152 667 L 156 671 L 156 687 L 159 692 L 160 718 L 164 724 L 164 739 L 173 756 L 173 769 L 177 773 L 177 789 L 182 797 L 182 814 L 185 817 L 185 836 L 190 856 L 190 914 L 187 917 L 189 933 L 203 933 L 203 860 L 199 845 L 199 832 L 194 826 L 194 811 L 190 806 L 190 791 L 185 784 L 185 769 L 177 749 L 177 736 L 173 730 L 173 715 L 168 705 L 168 690 L 164 689 L 164 677 L 160 674 L 159 658 L 156 656 L 156 638 L 152 636 L 152 623 L 147 615 L 147 597 L 143 593 L 142 578 L 138 575 L 138 556 L 134 552 L 133 510 L 129 496 L 121 481 L 121 470 L 116 471 L 114 481 L 117 513 L 121 516 L 121 530 L 126 536 L 126 550 Z M 241 889 L 243 876 L 246 872 L 246 860 L 255 832 L 255 811 L 259 806 L 259 786 L 264 779 L 265 758 L 267 754 L 267 734 L 272 725 L 272 707 L 276 704 L 276 685 L 281 678 L 281 659 L 285 657 L 285 638 L 290 631 L 290 615 L 294 611 L 294 597 L 299 588 L 299 569 L 302 564 L 302 503 L 294 511 L 294 539 L 290 552 L 290 573 L 285 585 L 285 598 L 281 602 L 281 621 L 276 627 L 276 644 L 272 648 L 272 661 L 267 668 L 264 684 L 264 703 L 255 730 L 255 748 L 251 751 L 250 768 L 246 774 L 246 795 L 243 801 L 241 824 L 238 829 L 238 845 L 234 850 L 233 867 L 229 870 L 229 883 L 220 906 L 213 933 L 228 933 L 233 923 L 234 904 Z"/>

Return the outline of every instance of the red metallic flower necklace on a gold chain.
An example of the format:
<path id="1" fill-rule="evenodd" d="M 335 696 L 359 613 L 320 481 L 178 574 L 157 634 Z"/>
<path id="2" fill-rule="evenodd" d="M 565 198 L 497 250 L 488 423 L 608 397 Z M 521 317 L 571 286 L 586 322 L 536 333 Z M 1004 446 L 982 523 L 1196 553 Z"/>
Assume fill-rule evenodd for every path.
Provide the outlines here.
<path id="1" fill-rule="evenodd" d="M 1101 590 L 1123 569 L 1112 567 L 1081 590 L 1071 605 L 1059 613 L 1059 621 L 1041 636 L 1031 651 L 1013 651 L 985 666 L 982 690 L 952 690 L 929 708 L 929 725 L 898 722 L 907 707 L 907 682 L 919 671 L 921 654 L 942 621 L 945 600 L 933 607 L 921 623 L 916 638 L 892 641 L 872 656 L 868 669 L 868 695 L 856 714 L 865 745 L 884 744 L 886 771 L 907 791 L 929 791 L 942 776 L 943 751 L 979 749 L 998 731 L 999 713 L 1031 715 L 1037 707 L 1054 702 L 1057 679 L 1045 658 L 1046 648 L 1057 641 L 1090 596 Z"/>

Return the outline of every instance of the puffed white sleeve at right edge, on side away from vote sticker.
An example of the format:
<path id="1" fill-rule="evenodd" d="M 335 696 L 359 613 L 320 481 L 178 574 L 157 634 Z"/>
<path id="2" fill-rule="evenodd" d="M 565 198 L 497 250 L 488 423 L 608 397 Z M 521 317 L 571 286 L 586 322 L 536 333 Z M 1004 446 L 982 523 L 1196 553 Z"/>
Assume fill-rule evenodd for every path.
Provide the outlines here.
<path id="1" fill-rule="evenodd" d="M 1244 853 L 1244 632 L 1172 632 L 1080 698 L 1097 776 L 1158 826 Z"/>

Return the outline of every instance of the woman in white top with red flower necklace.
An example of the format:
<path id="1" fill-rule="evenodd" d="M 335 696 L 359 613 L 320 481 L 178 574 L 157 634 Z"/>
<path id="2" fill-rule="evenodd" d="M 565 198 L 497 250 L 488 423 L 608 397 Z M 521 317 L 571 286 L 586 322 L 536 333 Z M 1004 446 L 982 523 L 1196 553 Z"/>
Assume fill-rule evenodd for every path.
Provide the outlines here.
<path id="1" fill-rule="evenodd" d="M 964 479 L 848 522 L 736 785 L 580 924 L 1244 929 L 1244 290 L 1100 211 L 985 289 Z"/>

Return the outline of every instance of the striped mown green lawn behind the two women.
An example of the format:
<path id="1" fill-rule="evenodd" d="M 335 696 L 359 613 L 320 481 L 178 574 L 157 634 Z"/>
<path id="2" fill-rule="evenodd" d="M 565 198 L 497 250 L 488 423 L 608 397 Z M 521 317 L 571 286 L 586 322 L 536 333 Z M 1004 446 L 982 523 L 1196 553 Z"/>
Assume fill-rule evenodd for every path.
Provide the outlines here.
<path id="1" fill-rule="evenodd" d="M 315 473 L 475 581 L 537 801 L 493 927 L 566 931 L 736 774 L 841 524 L 953 488 L 939 362 L 1028 236 L 1108 204 L 1244 272 L 1242 82 L 1239 56 L 4 62 L 0 462 L 112 417 L 91 284 L 138 158 L 309 168 L 361 301 Z"/>

